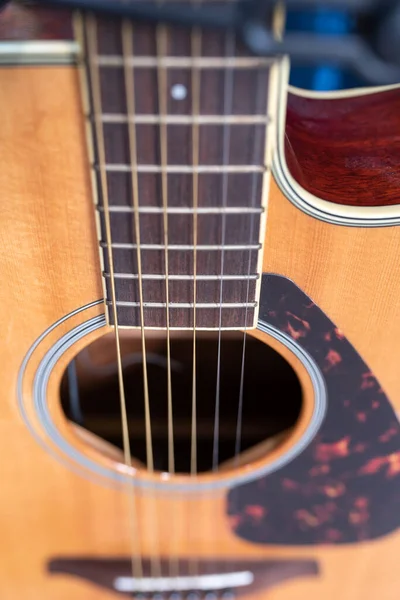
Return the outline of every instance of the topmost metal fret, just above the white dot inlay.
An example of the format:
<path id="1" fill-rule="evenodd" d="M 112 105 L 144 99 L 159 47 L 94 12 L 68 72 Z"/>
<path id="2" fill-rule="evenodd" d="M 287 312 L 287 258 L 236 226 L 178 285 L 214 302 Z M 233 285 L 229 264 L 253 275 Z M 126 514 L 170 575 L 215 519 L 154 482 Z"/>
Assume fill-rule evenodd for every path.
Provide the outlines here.
<path id="1" fill-rule="evenodd" d="M 260 57 L 198 57 L 191 58 L 189 56 L 165 56 L 158 58 L 155 56 L 135 56 L 129 59 L 123 58 L 117 54 L 103 55 L 99 54 L 94 58 L 94 62 L 100 67 L 130 67 L 148 68 L 148 67 L 163 67 L 166 69 L 249 69 L 257 67 L 270 67 L 274 62 L 274 58 Z"/>

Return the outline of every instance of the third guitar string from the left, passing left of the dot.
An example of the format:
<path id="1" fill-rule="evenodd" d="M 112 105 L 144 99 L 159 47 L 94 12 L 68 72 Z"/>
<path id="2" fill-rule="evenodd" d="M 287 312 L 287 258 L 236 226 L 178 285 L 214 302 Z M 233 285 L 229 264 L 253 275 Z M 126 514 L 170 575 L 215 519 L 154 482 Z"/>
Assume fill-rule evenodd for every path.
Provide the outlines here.
<path id="1" fill-rule="evenodd" d="M 158 111 L 161 117 L 168 113 L 167 105 L 167 72 L 162 65 L 162 57 L 167 55 L 168 34 L 165 26 L 159 25 L 156 29 L 157 46 L 157 84 L 158 84 Z M 169 256 L 168 256 L 168 130 L 165 119 L 160 123 L 160 158 L 161 158 L 161 196 L 163 204 L 163 231 L 164 231 L 164 269 L 165 269 L 165 304 L 166 304 L 166 342 L 167 342 L 167 404 L 168 404 L 168 472 L 175 473 L 174 454 L 174 420 L 172 404 L 172 373 L 171 373 L 171 336 L 170 336 L 170 314 L 169 314 Z M 176 521 L 175 518 L 172 521 Z M 171 536 L 172 541 L 174 535 Z M 170 577 L 178 576 L 178 559 L 173 554 L 169 558 Z"/>

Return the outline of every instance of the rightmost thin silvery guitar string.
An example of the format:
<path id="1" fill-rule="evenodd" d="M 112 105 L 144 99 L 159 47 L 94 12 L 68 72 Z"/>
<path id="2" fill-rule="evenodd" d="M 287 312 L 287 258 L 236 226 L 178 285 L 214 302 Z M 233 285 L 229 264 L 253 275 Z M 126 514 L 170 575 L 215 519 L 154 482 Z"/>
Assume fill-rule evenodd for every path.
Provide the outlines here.
<path id="1" fill-rule="evenodd" d="M 256 102 L 255 109 L 256 113 L 259 114 L 262 110 L 262 76 L 265 75 L 262 69 L 259 69 L 257 75 L 257 86 L 256 86 Z M 268 134 L 268 126 L 265 129 L 265 135 Z M 260 127 L 257 127 L 256 134 L 254 136 L 254 155 L 253 155 L 253 163 L 256 164 L 257 157 L 260 156 L 262 151 L 262 131 Z M 268 165 L 267 165 L 268 168 Z M 256 198 L 257 198 L 257 184 L 258 184 L 257 173 L 252 174 L 252 189 L 251 189 L 251 207 L 255 208 L 256 206 Z M 253 240 L 255 229 L 255 215 L 251 214 L 250 217 L 250 242 Z M 252 262 L 252 250 L 249 250 L 249 258 L 247 264 L 247 275 L 250 277 L 251 274 L 251 262 Z M 242 357 L 241 357 L 241 366 L 240 366 L 240 386 L 239 386 L 239 402 L 238 402 L 238 412 L 236 418 L 236 434 L 235 434 L 235 456 L 234 462 L 237 465 L 238 457 L 241 450 L 242 443 L 242 423 L 243 423 L 243 402 L 244 402 L 244 380 L 245 380 L 245 362 L 246 362 L 246 342 L 247 342 L 247 318 L 248 318 L 248 302 L 250 295 L 250 279 L 247 279 L 247 288 L 246 288 L 246 309 L 245 309 L 245 319 L 244 319 L 244 330 L 243 330 L 243 343 L 242 343 Z"/>

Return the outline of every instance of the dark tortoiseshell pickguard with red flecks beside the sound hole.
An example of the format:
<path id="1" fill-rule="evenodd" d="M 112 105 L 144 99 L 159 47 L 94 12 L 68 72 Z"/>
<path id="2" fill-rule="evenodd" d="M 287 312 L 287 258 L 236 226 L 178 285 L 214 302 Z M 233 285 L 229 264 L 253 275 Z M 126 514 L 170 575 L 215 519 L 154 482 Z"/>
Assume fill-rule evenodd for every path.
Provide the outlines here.
<path id="1" fill-rule="evenodd" d="M 285 277 L 263 276 L 260 320 L 312 356 L 326 382 L 328 409 L 300 456 L 230 491 L 234 531 L 251 542 L 288 545 L 361 542 L 394 531 L 400 427 L 378 381 L 341 331 Z"/>

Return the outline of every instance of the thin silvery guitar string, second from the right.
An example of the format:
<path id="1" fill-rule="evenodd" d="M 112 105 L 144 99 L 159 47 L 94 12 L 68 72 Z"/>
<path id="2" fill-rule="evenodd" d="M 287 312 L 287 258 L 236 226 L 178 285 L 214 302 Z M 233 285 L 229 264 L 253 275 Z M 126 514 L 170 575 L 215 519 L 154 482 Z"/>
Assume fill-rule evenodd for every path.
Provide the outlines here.
<path id="1" fill-rule="evenodd" d="M 225 57 L 233 56 L 235 52 L 235 35 L 232 33 L 226 34 L 225 39 Z M 233 105 L 233 82 L 234 72 L 231 67 L 227 67 L 224 77 L 224 117 L 232 114 Z M 230 155 L 231 128 L 224 123 L 223 125 L 223 148 L 222 160 L 223 165 L 229 164 Z M 222 176 L 222 206 L 224 212 L 222 214 L 222 232 L 221 232 L 221 265 L 220 275 L 221 282 L 219 288 L 219 315 L 218 315 L 218 350 L 217 350 L 217 373 L 216 373 L 216 388 L 215 388 L 215 411 L 214 411 L 214 435 L 213 435 L 213 451 L 212 451 L 212 470 L 218 471 L 219 464 L 219 421 L 220 421 L 220 403 L 221 403 L 221 345 L 222 345 L 222 300 L 224 288 L 224 267 L 225 267 L 225 238 L 226 238 L 226 213 L 225 209 L 228 200 L 228 174 Z"/>

